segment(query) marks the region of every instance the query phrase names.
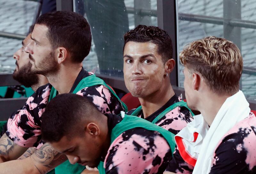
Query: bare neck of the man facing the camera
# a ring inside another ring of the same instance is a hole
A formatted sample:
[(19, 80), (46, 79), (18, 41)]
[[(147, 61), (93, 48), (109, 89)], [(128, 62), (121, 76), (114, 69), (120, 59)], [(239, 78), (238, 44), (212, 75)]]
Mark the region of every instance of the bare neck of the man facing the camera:
[(142, 107), (144, 118), (147, 118), (152, 113), (160, 109), (166, 104), (175, 93), (172, 89), (171, 83), (168, 86), (154, 92), (146, 98), (139, 98)]

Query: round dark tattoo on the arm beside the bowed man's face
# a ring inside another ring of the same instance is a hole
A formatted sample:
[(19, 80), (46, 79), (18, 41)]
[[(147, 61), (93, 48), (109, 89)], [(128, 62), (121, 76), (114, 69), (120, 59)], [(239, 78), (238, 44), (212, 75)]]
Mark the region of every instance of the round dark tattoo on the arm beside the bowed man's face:
[(67, 160), (65, 154), (58, 153), (49, 144), (44, 144), (31, 155), (40, 173), (46, 173)]

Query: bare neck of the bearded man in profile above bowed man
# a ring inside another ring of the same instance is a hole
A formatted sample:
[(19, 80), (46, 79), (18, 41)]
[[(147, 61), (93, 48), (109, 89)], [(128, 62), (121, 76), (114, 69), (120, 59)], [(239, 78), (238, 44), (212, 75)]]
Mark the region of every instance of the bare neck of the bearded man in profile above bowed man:
[(69, 93), (81, 69), (81, 64), (62, 65), (56, 74), (47, 76), (47, 79), (59, 94)]

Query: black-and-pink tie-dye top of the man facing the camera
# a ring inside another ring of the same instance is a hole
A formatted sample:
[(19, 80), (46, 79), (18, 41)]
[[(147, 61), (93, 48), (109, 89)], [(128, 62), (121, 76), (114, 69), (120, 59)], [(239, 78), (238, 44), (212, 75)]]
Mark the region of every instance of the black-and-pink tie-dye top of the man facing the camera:
[[(176, 94), (170, 98), (170, 100), (164, 104), (160, 109), (156, 112), (149, 115), (145, 120), (152, 122), (159, 114), (161, 114), (166, 108), (173, 105), (174, 103), (180, 102), (182, 99), (178, 97)], [(135, 109), (127, 112), (127, 115), (132, 114)], [(143, 111), (138, 114), (138, 117), (144, 119)], [(189, 122), (193, 120), (191, 112), (188, 108), (184, 106), (178, 106), (165, 114), (160, 120), (158, 120), (155, 124), (157, 126), (163, 127), (165, 130), (168, 130), (172, 134), (176, 135), (180, 130), (187, 126)]]

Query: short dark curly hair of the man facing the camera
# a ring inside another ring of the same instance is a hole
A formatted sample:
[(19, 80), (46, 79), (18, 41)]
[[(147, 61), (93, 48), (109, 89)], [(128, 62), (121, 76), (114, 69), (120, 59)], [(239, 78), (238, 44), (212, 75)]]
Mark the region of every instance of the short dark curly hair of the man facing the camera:
[(157, 45), (157, 53), (162, 56), (164, 63), (172, 58), (172, 39), (166, 31), (157, 26), (138, 25), (136, 28), (124, 34), (124, 47), (125, 44), (129, 41), (151, 41)]

